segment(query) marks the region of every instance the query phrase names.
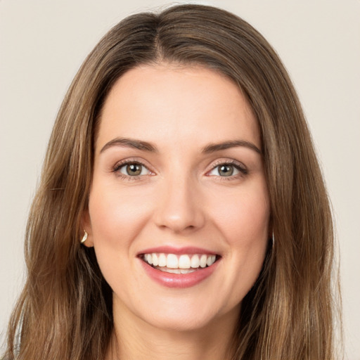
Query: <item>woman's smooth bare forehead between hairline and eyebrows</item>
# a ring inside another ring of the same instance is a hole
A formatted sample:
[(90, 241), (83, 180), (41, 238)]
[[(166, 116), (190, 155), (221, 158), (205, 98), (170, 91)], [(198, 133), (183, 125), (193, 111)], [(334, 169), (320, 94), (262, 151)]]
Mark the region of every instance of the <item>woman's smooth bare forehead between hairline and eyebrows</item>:
[(257, 120), (239, 86), (214, 70), (173, 64), (139, 66), (115, 82), (96, 148), (115, 136), (199, 146), (245, 137), (261, 147)]

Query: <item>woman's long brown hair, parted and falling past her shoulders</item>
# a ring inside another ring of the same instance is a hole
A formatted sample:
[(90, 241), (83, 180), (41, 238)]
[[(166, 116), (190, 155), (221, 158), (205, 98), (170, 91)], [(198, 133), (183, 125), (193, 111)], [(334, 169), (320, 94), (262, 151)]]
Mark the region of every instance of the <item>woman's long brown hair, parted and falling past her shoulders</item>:
[(89, 54), (60, 108), (27, 224), (27, 282), (8, 359), (103, 359), (112, 292), (79, 243), (99, 113), (127, 70), (203, 65), (233, 80), (257, 116), (274, 245), (242, 304), (233, 359), (333, 359), (333, 222), (302, 108), (281, 60), (244, 20), (211, 6), (131, 15)]

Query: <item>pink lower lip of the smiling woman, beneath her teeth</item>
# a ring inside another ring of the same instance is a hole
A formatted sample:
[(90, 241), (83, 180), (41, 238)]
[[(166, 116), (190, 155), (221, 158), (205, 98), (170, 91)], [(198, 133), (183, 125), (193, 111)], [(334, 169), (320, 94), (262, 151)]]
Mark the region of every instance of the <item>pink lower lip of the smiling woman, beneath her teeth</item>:
[(191, 288), (191, 286), (198, 285), (198, 283), (201, 283), (214, 272), (219, 262), (218, 260), (211, 266), (195, 270), (189, 274), (172, 274), (155, 269), (141, 259), (139, 261), (150, 278), (167, 288)]

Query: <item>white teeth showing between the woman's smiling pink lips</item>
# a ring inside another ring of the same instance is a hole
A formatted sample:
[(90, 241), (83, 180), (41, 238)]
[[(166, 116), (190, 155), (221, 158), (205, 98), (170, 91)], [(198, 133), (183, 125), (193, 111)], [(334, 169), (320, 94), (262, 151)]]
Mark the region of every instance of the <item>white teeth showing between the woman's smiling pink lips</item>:
[(174, 255), (174, 254), (144, 254), (143, 260), (161, 271), (173, 274), (188, 274), (199, 267), (205, 268), (214, 264), (216, 255)]

